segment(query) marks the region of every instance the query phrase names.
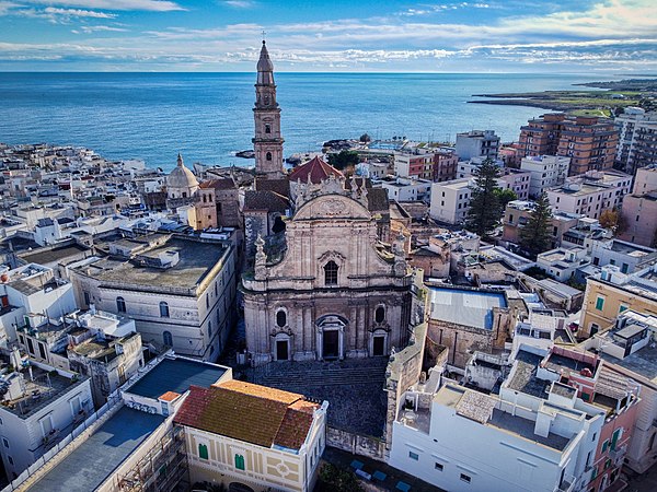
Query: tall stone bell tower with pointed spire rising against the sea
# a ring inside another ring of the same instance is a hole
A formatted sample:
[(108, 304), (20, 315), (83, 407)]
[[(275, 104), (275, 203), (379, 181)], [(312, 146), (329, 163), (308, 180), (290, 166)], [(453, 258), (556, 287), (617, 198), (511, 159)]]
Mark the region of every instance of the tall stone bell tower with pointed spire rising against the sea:
[(280, 136), (280, 108), (276, 102), (274, 65), (269, 59), (264, 39), (257, 61), (253, 117), (255, 120), (255, 137), (253, 138), (255, 173), (268, 179), (281, 178), (285, 172), (283, 168), (284, 140)]

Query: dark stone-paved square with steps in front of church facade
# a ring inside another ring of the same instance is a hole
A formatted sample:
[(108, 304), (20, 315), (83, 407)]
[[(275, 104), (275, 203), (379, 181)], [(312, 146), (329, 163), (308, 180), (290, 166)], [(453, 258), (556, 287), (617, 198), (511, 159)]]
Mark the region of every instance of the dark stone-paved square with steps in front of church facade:
[(328, 401), (328, 425), (381, 437), (385, 425), (388, 358), (273, 362), (244, 370), (246, 379)]

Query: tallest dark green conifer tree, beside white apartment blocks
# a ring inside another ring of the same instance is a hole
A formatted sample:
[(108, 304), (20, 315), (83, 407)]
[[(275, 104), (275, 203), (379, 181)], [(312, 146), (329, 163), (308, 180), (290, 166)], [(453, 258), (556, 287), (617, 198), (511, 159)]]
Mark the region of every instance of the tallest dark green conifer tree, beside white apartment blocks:
[(474, 172), (474, 186), (470, 210), (465, 218), (465, 229), (486, 237), (502, 216), (502, 207), (497, 195), (499, 167), (491, 159), (486, 159)]

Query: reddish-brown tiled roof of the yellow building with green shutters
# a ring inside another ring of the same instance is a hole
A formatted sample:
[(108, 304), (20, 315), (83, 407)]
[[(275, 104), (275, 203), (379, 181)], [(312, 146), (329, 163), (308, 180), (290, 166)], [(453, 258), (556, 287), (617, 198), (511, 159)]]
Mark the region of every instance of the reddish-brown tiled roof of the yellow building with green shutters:
[(299, 449), (318, 408), (302, 395), (229, 380), (209, 388), (192, 386), (175, 421), (267, 448)]

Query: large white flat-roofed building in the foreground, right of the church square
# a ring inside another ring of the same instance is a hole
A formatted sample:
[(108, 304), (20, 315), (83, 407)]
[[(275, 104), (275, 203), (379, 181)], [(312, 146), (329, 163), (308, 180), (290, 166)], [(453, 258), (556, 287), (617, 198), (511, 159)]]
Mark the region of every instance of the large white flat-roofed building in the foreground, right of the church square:
[(453, 384), (434, 395), (406, 391), (395, 409), (390, 465), (454, 492), (520, 492), (528, 483), (533, 491), (575, 490), (586, 414), (511, 401)]

